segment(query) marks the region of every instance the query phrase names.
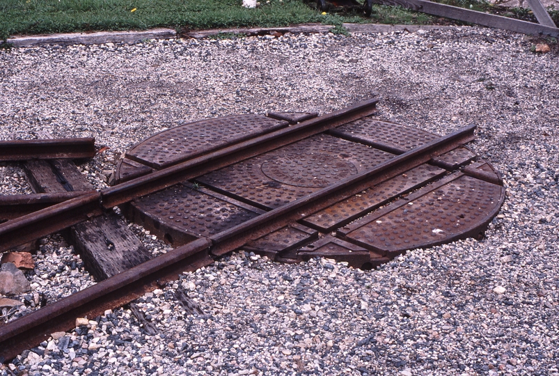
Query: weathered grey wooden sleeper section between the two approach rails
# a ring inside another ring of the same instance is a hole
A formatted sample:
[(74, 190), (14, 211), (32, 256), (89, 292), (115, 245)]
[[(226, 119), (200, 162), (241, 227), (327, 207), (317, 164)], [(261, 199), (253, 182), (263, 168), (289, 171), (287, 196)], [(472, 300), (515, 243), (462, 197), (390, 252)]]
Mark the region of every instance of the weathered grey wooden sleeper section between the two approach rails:
[(77, 224), (72, 243), (97, 281), (150, 260), (151, 254), (116, 214), (105, 214)]

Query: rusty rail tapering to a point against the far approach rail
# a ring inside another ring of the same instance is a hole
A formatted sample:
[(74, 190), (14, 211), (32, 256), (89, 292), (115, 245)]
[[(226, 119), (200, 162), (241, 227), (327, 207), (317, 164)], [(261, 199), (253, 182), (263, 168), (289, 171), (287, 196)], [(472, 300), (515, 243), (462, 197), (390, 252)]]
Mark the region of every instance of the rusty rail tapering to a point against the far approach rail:
[(84, 194), (92, 194), (95, 191), (70, 191), (42, 194), (13, 194), (8, 196), (0, 196), (0, 221), (15, 219), (25, 214), (45, 209), (57, 203), (83, 196)]

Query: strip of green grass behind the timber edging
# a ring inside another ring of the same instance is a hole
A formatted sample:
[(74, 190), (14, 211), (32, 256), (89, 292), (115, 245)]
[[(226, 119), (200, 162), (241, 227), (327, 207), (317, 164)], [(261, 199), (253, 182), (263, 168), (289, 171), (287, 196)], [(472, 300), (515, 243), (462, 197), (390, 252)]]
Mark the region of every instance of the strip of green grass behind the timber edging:
[[(214, 29), (287, 26), (322, 22), (425, 24), (433, 17), (402, 8), (375, 6), (369, 19), (357, 13), (322, 15), (304, 0), (271, 0), (255, 9), (242, 0), (0, 0), (0, 39), (17, 34), (93, 30)], [(131, 12), (132, 9), (136, 9)]]

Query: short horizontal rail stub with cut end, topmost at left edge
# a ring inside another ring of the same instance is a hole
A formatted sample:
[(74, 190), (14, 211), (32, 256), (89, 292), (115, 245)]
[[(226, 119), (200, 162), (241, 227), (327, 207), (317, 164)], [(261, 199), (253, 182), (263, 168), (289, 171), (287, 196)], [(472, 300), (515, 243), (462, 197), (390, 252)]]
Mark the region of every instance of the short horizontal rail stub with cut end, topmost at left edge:
[(0, 141), (0, 161), (79, 159), (95, 155), (95, 139), (42, 139)]

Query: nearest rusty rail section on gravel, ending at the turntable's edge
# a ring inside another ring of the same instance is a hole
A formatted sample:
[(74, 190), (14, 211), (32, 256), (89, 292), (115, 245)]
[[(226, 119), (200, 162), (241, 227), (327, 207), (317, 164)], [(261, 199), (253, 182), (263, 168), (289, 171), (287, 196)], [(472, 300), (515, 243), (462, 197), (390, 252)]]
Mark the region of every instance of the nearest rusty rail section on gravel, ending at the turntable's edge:
[(213, 262), (207, 256), (210, 244), (210, 240), (198, 239), (9, 322), (0, 327), (0, 357), (12, 359), (53, 331), (72, 329), (76, 318), (102, 315), (176, 279), (182, 271), (209, 265)]

